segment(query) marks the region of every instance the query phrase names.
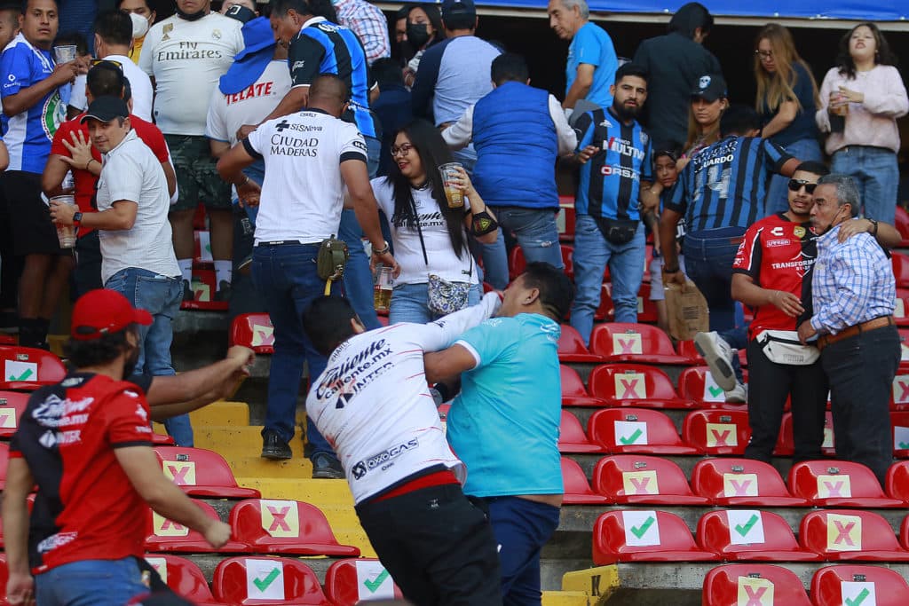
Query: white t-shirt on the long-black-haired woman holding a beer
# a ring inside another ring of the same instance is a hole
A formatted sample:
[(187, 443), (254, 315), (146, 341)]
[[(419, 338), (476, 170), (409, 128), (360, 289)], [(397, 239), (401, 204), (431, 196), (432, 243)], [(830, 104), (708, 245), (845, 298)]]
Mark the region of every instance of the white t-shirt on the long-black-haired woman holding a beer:
[[(411, 229), (407, 224), (395, 224), (395, 189), (385, 177), (372, 180), (373, 193), (379, 208), (388, 217), (392, 230), (392, 241), (395, 243), (395, 261), (401, 265), (401, 274), (395, 278), (396, 284), (428, 283), (429, 274), (435, 273), (449, 282), (479, 283), (474, 258), (464, 247), (461, 257), (454, 253), (451, 238), (448, 235), (448, 224), (439, 210), (432, 192), (426, 189), (411, 189), (414, 194), (416, 214), (420, 219), (423, 231), (423, 242), (426, 247), (426, 259), (420, 245), (420, 233), (416, 227)], [(470, 210), (470, 202), (464, 198), (464, 209)], [(464, 243), (467, 236), (464, 235)]]

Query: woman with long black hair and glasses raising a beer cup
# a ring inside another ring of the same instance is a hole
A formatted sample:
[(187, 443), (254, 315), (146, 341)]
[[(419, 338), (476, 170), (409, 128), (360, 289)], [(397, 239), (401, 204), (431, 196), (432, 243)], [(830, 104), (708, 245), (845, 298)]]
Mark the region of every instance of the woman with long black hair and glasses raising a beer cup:
[(433, 124), (408, 124), (395, 134), (391, 152), (389, 174), (372, 182), (401, 268), (389, 322), (432, 322), (480, 302), (483, 292), (467, 231), (492, 243), (498, 225), (464, 167), (452, 165), (451, 151)]

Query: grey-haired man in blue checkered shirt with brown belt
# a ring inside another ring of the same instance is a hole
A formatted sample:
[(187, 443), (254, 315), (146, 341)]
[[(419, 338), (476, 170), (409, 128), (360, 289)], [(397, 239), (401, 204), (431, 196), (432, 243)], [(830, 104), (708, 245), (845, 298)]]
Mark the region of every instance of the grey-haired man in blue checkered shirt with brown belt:
[(841, 224), (861, 208), (851, 177), (829, 174), (814, 190), (817, 238), (814, 316), (799, 326), (802, 343), (817, 338), (830, 380), (836, 456), (867, 465), (884, 484), (893, 462), (890, 389), (900, 364), (894, 325), (896, 286), (890, 259), (873, 233), (841, 238)]

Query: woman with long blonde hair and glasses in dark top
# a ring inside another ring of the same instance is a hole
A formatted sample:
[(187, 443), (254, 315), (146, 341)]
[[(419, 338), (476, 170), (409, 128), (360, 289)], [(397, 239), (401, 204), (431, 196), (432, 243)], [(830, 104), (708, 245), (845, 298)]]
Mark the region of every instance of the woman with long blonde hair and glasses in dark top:
[[(782, 147), (787, 154), (804, 161), (820, 161), (814, 111), (817, 83), (811, 68), (795, 50), (793, 36), (783, 25), (764, 25), (755, 38), (754, 79), (757, 96), (754, 107), (761, 114), (761, 136)], [(787, 179), (774, 174), (767, 188), (766, 214), (785, 212)]]

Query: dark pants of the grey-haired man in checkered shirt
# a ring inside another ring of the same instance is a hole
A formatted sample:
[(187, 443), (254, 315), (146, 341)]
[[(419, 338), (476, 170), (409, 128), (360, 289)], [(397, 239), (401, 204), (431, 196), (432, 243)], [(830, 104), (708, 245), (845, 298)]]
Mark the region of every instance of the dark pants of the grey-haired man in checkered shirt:
[(836, 457), (871, 468), (884, 485), (894, 462), (890, 391), (900, 366), (900, 335), (885, 326), (831, 343), (821, 353), (830, 380)]

